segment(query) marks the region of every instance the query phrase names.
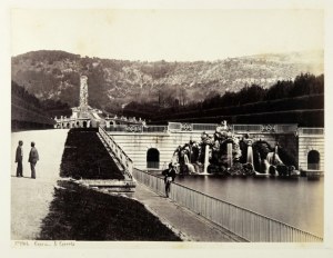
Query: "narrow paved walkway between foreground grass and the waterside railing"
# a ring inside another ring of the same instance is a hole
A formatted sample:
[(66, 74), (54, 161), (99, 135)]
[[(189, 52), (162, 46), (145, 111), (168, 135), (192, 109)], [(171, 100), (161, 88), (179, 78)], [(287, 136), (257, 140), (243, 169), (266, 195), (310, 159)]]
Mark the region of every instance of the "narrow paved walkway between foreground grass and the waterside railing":
[(188, 241), (241, 241), (241, 239), (213, 222), (176, 205), (169, 198), (159, 196), (145, 186), (138, 183), (134, 198), (144, 204), (162, 222), (171, 226)]

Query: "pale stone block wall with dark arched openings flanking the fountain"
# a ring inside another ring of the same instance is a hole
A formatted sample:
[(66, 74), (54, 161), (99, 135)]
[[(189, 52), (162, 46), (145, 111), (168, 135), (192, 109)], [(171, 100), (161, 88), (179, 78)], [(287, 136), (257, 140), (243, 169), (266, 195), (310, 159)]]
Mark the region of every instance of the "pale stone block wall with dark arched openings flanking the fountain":
[[(113, 136), (117, 143), (133, 160), (134, 167), (147, 169), (147, 153), (153, 148), (160, 152), (159, 169), (167, 168), (172, 159), (173, 151), (178, 146), (183, 146), (190, 140), (200, 142), (201, 131), (195, 132), (164, 132), (164, 133), (129, 133), (129, 132), (109, 132)], [(211, 133), (210, 133), (211, 135)], [(239, 133), (238, 137), (243, 135)], [(295, 136), (294, 133), (253, 133), (250, 136), (254, 140), (264, 140), (274, 147), (276, 142), (294, 160), (294, 165), (300, 170), (307, 169), (307, 153), (316, 150), (320, 153), (320, 169), (324, 170), (324, 136)], [(292, 165), (292, 163), (286, 163)]]

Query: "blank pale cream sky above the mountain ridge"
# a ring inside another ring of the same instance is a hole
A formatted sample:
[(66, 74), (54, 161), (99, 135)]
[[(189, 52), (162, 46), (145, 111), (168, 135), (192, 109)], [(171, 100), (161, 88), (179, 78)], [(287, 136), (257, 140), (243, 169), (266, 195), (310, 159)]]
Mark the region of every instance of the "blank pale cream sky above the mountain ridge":
[(141, 61), (321, 50), (320, 9), (11, 9), (11, 56), (64, 50)]

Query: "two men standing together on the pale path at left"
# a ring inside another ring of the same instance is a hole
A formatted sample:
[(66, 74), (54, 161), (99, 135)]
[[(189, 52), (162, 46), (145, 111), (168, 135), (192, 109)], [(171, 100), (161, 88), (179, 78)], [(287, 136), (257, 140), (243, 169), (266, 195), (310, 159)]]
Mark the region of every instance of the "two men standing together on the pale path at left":
[[(19, 140), (19, 146), (17, 148), (16, 153), (16, 162), (18, 163), (17, 167), (17, 177), (23, 177), (23, 141)], [(31, 149), (29, 152), (29, 159), (28, 162), (30, 163), (31, 169), (31, 178), (36, 179), (36, 163), (39, 160), (38, 151), (34, 147), (34, 142), (31, 141)]]

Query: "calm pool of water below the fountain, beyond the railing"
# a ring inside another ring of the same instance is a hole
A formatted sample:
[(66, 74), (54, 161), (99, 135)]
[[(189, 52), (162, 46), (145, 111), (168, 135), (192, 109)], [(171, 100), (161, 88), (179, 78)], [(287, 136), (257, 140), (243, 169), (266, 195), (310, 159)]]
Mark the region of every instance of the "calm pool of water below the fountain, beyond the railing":
[(178, 177), (175, 182), (323, 236), (324, 178)]

